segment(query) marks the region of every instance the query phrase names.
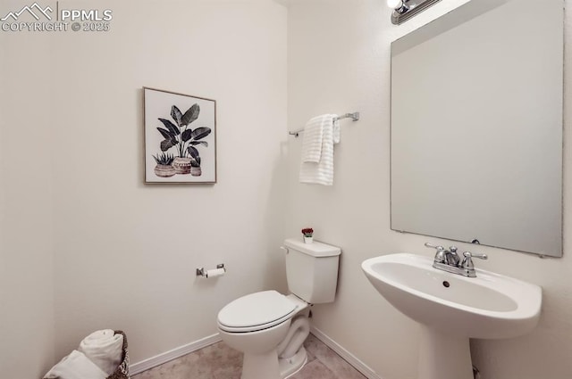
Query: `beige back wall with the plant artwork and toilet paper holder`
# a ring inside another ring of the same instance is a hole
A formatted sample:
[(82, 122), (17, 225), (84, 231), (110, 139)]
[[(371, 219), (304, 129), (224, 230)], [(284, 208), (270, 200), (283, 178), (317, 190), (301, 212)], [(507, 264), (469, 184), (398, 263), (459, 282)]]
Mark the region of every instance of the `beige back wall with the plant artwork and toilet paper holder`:
[[(56, 47), (55, 351), (123, 328), (137, 362), (216, 333), (225, 303), (275, 283), (259, 273), (282, 238), (287, 13), (269, 1), (107, 4), (109, 34)], [(216, 185), (142, 184), (143, 86), (217, 101)], [(196, 279), (218, 263), (226, 276)]]

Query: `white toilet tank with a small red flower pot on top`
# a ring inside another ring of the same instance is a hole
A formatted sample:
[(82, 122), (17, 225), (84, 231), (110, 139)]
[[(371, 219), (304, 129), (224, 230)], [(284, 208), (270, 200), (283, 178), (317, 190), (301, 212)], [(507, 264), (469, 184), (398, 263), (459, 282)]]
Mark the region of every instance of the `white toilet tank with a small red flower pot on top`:
[(332, 302), (338, 285), (341, 249), (326, 243), (304, 243), (301, 239), (284, 241), (288, 288), (311, 304)]

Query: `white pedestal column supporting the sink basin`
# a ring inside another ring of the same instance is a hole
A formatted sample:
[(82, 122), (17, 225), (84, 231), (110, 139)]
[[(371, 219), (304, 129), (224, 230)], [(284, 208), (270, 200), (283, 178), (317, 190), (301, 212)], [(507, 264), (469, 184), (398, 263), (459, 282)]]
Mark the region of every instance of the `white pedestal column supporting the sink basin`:
[(419, 379), (473, 379), (467, 337), (447, 334), (421, 324)]

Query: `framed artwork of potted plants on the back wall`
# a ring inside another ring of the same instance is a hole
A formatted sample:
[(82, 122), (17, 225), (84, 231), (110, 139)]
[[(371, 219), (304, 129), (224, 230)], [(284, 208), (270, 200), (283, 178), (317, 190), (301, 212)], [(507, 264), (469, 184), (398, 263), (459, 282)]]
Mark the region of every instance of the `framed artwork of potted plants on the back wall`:
[(216, 102), (143, 87), (145, 183), (216, 183)]

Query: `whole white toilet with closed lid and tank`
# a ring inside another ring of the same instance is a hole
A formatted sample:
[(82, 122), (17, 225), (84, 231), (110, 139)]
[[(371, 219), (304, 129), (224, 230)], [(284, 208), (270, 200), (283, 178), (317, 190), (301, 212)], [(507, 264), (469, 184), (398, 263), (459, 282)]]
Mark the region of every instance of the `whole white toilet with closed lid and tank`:
[(332, 302), (341, 250), (325, 243), (284, 241), (290, 294), (250, 293), (218, 313), (221, 338), (244, 353), (242, 379), (282, 379), (307, 362), (308, 305)]

